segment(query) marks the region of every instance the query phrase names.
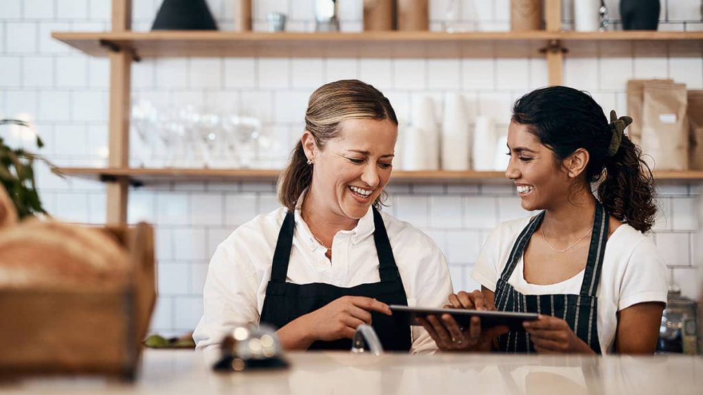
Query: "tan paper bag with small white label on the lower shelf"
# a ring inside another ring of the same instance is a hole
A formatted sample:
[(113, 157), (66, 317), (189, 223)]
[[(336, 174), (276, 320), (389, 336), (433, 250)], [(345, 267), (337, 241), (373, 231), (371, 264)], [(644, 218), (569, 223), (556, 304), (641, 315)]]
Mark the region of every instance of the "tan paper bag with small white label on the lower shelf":
[(657, 170), (688, 170), (688, 118), (685, 84), (645, 82), (642, 147)]

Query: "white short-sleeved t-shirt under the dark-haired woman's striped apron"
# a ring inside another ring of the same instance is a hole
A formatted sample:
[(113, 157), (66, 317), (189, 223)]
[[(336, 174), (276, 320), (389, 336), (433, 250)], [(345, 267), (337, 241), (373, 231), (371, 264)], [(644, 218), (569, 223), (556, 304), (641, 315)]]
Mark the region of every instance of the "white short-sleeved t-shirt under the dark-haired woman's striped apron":
[[(496, 290), (508, 255), (517, 236), (527, 226), (529, 217), (500, 224), (486, 240), (472, 277), (491, 291)], [(523, 257), (508, 278), (508, 284), (522, 294), (579, 294), (583, 272), (549, 285), (527, 283)], [(623, 224), (605, 245), (598, 297), (598, 341), (602, 354), (614, 351), (617, 312), (643, 302), (666, 303), (666, 265), (659, 258), (652, 240)]]

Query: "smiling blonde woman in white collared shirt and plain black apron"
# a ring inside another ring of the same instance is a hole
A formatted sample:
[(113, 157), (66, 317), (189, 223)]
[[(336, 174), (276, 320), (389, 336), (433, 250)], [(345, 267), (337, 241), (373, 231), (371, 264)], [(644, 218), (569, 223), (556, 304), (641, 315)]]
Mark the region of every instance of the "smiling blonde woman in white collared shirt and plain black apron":
[(452, 292), (437, 245), (379, 210), (397, 135), (395, 112), (373, 86), (343, 80), (312, 93), (280, 177), (283, 207), (240, 226), (210, 261), (198, 348), (233, 325), (267, 323), (286, 349), (349, 350), (367, 323), (387, 350), (437, 349), (388, 307), (439, 307)]

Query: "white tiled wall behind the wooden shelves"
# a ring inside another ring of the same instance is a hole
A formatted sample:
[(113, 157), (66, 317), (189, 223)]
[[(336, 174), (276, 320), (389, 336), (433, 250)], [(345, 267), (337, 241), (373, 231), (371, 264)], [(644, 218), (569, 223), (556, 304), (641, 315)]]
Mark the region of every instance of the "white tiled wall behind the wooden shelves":
[[(342, 30), (359, 31), (361, 1), (340, 3)], [(571, 27), (570, 0), (563, 25)], [(208, 0), (223, 30), (234, 25), (233, 0)], [(618, 0), (606, 0), (611, 25), (621, 28)], [(148, 31), (160, 0), (133, 1), (133, 29)], [(266, 30), (266, 14), (288, 13), (292, 30), (313, 31), (313, 0), (255, 0), (254, 29)], [(430, 1), (432, 30), (509, 30), (509, 0)], [(451, 8), (453, 7), (453, 8)], [(699, 0), (662, 1), (662, 30), (703, 30)], [(105, 166), (109, 63), (90, 58), (50, 37), (60, 30), (108, 30), (110, 0), (3, 0), (0, 6), (0, 116), (30, 117), (54, 163)], [(490, 50), (490, 48), (489, 48)], [(516, 48), (526, 51), (526, 48)], [(603, 106), (626, 112), (629, 78), (671, 77), (703, 89), (703, 57), (677, 57), (670, 44), (613, 47), (593, 44), (594, 58), (567, 58), (565, 84), (587, 89)], [(601, 57), (602, 56), (602, 57)], [(280, 166), (303, 129), (307, 98), (316, 86), (359, 78), (385, 91), (402, 121), (418, 95), (435, 100), (441, 115), (447, 93), (462, 93), (470, 119), (488, 115), (507, 127), (516, 98), (544, 86), (546, 62), (524, 58), (169, 58), (133, 63), (133, 98), (157, 107), (193, 105), (215, 112), (258, 117), (262, 136), (278, 142), (257, 164)], [(441, 119), (441, 117), (438, 117)], [(20, 136), (7, 141), (29, 146)], [(138, 142), (133, 141), (134, 144)], [(136, 151), (136, 150), (133, 150)], [(134, 152), (133, 152), (134, 156)], [(133, 158), (134, 159), (134, 158)], [(65, 221), (105, 218), (101, 183), (60, 179), (37, 164), (45, 207)], [(698, 297), (695, 271), (703, 263), (700, 240), (703, 188), (695, 183), (657, 186), (661, 211), (651, 233), (671, 278), (688, 297)], [(470, 278), (485, 238), (500, 221), (526, 216), (514, 188), (398, 183), (388, 187), (388, 212), (430, 235), (446, 255), (455, 290), (473, 290)], [(155, 224), (160, 296), (153, 330), (192, 330), (202, 313), (207, 261), (237, 226), (278, 207), (273, 183), (158, 183), (130, 190), (130, 223)]]

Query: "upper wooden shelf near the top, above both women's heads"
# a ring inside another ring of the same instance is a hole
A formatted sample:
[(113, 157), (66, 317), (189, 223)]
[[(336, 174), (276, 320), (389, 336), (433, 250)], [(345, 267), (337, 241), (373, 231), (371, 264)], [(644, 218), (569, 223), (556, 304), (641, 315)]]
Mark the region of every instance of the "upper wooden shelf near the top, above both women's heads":
[[(596, 42), (675, 43), (676, 56), (701, 56), (703, 32), (361, 32), (262, 33), (221, 31), (54, 32), (51, 36), (91, 56), (129, 51), (136, 58), (524, 58), (550, 44), (569, 56), (625, 56)], [(645, 45), (646, 47), (646, 45)]]

